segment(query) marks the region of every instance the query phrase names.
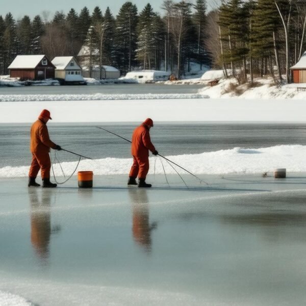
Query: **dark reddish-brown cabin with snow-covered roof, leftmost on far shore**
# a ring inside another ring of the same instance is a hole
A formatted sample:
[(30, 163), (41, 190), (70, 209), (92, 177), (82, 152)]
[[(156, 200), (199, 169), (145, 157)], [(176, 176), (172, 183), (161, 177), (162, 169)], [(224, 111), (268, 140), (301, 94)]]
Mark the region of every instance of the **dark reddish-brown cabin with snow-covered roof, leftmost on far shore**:
[(8, 67), (11, 78), (20, 80), (54, 79), (55, 66), (45, 55), (17, 55)]

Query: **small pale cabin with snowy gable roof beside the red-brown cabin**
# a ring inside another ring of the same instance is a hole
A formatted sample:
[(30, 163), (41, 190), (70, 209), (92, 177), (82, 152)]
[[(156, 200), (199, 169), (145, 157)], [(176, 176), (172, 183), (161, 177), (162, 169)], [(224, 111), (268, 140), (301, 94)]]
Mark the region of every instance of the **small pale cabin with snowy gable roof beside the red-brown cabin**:
[(58, 56), (52, 61), (56, 67), (55, 78), (65, 82), (85, 82), (82, 77), (82, 68), (73, 56)]

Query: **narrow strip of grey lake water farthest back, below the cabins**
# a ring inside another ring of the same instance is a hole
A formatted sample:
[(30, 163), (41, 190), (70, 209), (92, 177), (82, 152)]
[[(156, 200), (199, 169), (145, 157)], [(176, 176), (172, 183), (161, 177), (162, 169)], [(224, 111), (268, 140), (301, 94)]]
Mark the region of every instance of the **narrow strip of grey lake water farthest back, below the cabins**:
[(204, 85), (105, 84), (87, 86), (0, 87), (1, 94), (166, 94), (197, 93)]

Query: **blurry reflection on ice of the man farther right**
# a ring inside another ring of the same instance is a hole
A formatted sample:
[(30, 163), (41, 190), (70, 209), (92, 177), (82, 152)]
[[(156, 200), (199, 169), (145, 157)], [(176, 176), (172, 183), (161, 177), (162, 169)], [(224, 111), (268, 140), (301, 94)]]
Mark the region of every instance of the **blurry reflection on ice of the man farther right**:
[(145, 189), (129, 189), (132, 204), (134, 241), (146, 252), (151, 251), (151, 232), (157, 228), (157, 222), (149, 222), (149, 207), (147, 191)]

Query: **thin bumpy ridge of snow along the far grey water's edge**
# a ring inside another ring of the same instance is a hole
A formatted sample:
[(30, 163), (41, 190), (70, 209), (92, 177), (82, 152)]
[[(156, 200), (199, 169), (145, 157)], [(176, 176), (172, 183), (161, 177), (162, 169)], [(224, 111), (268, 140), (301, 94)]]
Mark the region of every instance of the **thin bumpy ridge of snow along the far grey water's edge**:
[(197, 99), (207, 95), (200, 93), (187, 94), (4, 94), (0, 95), (1, 102), (15, 101), (83, 101), (83, 100), (143, 100), (143, 99)]

